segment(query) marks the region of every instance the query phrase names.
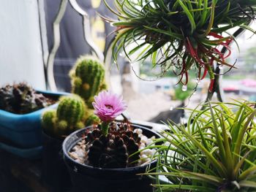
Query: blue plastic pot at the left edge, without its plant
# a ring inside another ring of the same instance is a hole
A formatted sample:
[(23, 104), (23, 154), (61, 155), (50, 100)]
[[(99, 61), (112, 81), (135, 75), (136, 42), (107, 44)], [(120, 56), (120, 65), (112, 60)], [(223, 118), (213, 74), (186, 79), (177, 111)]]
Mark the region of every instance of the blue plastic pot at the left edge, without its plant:
[[(50, 91), (37, 91), (43, 95), (59, 99), (60, 96), (69, 93), (53, 93)], [(5, 145), (20, 148), (20, 150), (37, 148), (42, 146), (42, 112), (49, 109), (55, 109), (58, 104), (52, 104), (41, 110), (30, 112), (24, 115), (14, 114), (0, 110), (0, 139)], [(0, 145), (1, 147), (1, 145)], [(6, 148), (4, 148), (6, 150)], [(13, 153), (12, 151), (10, 151)]]

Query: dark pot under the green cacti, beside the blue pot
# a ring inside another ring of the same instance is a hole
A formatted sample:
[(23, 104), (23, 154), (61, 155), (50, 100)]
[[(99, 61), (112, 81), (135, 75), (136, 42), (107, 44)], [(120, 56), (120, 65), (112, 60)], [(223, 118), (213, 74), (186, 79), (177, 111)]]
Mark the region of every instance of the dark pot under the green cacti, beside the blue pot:
[(72, 188), (67, 166), (64, 163), (62, 142), (64, 139), (50, 137), (43, 132), (43, 180), (49, 191), (63, 192)]

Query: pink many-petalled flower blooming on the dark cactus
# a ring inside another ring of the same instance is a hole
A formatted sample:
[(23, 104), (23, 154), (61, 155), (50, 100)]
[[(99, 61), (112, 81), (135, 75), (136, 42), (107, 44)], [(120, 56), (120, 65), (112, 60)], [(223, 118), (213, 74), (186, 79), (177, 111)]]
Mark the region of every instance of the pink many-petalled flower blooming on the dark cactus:
[(127, 104), (123, 101), (122, 96), (110, 91), (100, 92), (98, 96), (94, 96), (94, 101), (92, 103), (94, 114), (106, 123), (114, 120), (127, 109)]

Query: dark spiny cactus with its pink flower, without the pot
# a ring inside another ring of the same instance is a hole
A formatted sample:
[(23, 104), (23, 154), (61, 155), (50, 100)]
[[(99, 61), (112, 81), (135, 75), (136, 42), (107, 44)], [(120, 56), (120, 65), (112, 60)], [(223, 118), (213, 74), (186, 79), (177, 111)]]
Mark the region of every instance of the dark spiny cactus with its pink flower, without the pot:
[(121, 96), (110, 91), (100, 92), (94, 100), (94, 114), (101, 123), (86, 134), (89, 164), (103, 168), (134, 166), (140, 158), (140, 137), (129, 123), (113, 122), (127, 109), (127, 104)]

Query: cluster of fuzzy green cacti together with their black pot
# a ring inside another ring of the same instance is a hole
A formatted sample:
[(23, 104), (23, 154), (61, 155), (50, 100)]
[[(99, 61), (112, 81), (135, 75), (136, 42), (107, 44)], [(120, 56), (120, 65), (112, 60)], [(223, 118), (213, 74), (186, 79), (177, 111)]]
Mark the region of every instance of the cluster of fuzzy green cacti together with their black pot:
[(90, 109), (91, 98), (105, 88), (104, 66), (89, 55), (78, 58), (70, 71), (70, 77), (73, 94), (61, 97), (56, 110), (47, 110), (42, 115), (43, 170), (46, 183), (52, 191), (67, 191), (71, 187), (62, 157), (62, 142), (73, 131), (99, 122)]

